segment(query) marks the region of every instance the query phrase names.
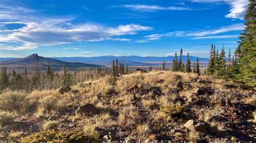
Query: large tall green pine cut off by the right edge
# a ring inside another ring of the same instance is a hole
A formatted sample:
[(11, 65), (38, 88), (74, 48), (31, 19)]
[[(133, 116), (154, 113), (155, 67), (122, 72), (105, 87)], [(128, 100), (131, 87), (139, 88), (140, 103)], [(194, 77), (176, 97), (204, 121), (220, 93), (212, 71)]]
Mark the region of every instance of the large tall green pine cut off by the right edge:
[(247, 85), (256, 87), (256, 2), (249, 0), (245, 15), (244, 33), (239, 37), (239, 45), (235, 54), (238, 56), (240, 80)]

